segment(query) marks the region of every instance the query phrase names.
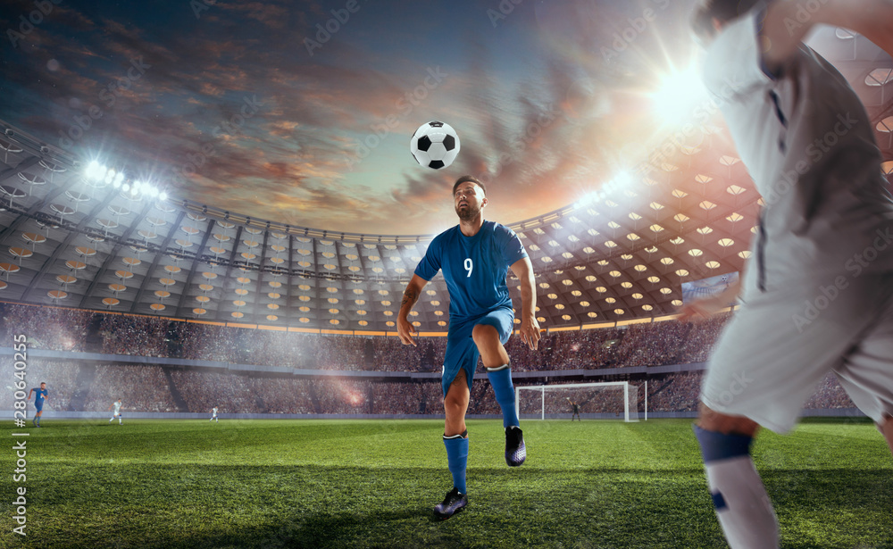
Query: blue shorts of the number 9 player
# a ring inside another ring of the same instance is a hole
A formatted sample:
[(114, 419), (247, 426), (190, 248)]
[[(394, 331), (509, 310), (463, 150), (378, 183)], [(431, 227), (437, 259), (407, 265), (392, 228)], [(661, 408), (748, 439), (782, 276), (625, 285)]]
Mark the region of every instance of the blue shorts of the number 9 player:
[(450, 322), (447, 332), (447, 353), (444, 357), (443, 376), (440, 379), (444, 397), (447, 397), (449, 386), (453, 383), (459, 369), (465, 370), (465, 381), (468, 389), (472, 389), (474, 370), (478, 368), (480, 352), (472, 339), (472, 330), (478, 324), (487, 324), (499, 332), (499, 342), (505, 345), (512, 335), (514, 312), (511, 309), (497, 309), (477, 318), (463, 321), (461, 324)]

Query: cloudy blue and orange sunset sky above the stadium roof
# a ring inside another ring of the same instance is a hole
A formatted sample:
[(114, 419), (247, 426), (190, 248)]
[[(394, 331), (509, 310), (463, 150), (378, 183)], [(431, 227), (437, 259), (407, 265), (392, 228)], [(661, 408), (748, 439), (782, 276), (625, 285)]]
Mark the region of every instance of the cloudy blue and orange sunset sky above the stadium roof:
[[(471, 173), (509, 223), (647, 157), (690, 4), (7, 0), (0, 119), (256, 219), (430, 234)], [(430, 120), (462, 143), (442, 171), (409, 153)]]

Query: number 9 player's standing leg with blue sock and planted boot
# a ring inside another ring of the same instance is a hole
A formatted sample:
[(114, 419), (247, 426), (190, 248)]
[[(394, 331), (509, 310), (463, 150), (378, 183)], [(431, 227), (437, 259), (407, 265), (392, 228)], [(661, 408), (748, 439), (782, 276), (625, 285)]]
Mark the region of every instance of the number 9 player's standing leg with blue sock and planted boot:
[(453, 489), (447, 493), (442, 503), (434, 507), (434, 515), (440, 520), (449, 519), (468, 504), (468, 496), (465, 494), (465, 468), (468, 463), (465, 412), (468, 410), (470, 397), (465, 370), (460, 368), (444, 398), (444, 411), (447, 412), (444, 446), (447, 448), (447, 467), (453, 475)]

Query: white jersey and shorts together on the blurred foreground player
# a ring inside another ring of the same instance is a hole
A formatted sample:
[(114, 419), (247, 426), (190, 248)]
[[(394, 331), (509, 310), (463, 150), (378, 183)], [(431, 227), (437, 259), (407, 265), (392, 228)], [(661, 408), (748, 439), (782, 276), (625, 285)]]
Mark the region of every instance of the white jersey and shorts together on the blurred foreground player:
[(801, 46), (764, 71), (757, 10), (707, 48), (705, 85), (764, 197), (743, 304), (701, 401), (785, 432), (830, 371), (872, 420), (893, 413), (893, 198), (864, 106)]

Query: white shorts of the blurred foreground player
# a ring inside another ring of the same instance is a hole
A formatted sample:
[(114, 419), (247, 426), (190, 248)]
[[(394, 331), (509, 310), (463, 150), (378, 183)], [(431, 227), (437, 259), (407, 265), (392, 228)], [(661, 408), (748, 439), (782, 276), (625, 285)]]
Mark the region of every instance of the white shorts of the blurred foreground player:
[(701, 401), (784, 433), (830, 371), (872, 420), (893, 413), (893, 273), (749, 288), (714, 348)]

